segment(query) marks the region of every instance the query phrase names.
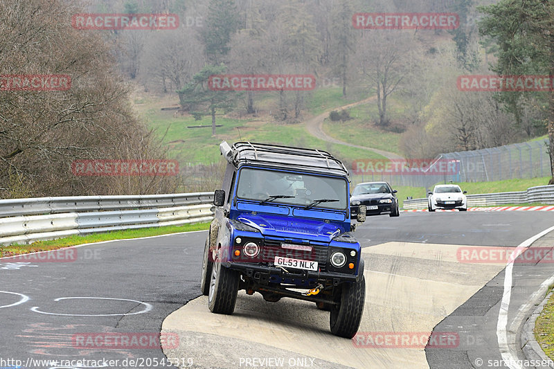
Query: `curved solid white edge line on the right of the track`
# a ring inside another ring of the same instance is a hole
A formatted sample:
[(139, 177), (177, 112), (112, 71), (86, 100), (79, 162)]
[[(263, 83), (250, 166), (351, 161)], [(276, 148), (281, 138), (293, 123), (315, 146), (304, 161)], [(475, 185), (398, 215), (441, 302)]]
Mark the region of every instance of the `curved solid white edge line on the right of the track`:
[(517, 246), (512, 252), (508, 264), (506, 264), (506, 271), (504, 273), (504, 291), (498, 314), (497, 337), (502, 359), (510, 369), (522, 369), (515, 359), (517, 354), (512, 351), (510, 344), (508, 343), (508, 307), (510, 307), (510, 298), (512, 295), (512, 270), (514, 267), (514, 261), (517, 259), (519, 254), (524, 251), (524, 249), (527, 249), (531, 246), (531, 244), (533, 244), (533, 242), (551, 231), (554, 231), (554, 226), (528, 238), (524, 242), (521, 242), (521, 244), (519, 244), (519, 246)]

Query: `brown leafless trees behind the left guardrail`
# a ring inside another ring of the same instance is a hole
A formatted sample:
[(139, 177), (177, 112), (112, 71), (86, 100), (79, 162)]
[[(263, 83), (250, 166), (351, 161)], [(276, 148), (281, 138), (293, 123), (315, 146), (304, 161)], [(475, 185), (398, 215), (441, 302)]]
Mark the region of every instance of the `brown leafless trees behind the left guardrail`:
[[(78, 177), (75, 159), (163, 159), (129, 108), (129, 89), (100, 33), (71, 27), (81, 11), (69, 0), (0, 3), (0, 74), (69, 75), (66, 91), (2, 91), (0, 188), (2, 197), (106, 194), (115, 177)], [(60, 19), (67, 19), (60, 22)], [(132, 193), (165, 192), (173, 179), (130, 179)], [(21, 191), (21, 183), (25, 183)]]

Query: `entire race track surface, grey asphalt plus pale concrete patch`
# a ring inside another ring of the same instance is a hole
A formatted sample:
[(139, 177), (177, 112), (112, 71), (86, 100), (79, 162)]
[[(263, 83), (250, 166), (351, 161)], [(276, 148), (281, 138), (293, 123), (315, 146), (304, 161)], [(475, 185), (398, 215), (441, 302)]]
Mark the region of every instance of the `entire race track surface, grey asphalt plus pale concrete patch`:
[[(271, 367), (256, 358), (294, 359), (292, 367), (312, 368), (476, 367), (477, 357), (485, 363), (500, 357), (503, 265), (459, 262), (456, 252), (461, 246), (513, 248), (553, 224), (554, 214), (515, 211), (368, 217), (357, 230), (366, 246), (368, 279), (362, 328), (366, 333), (458, 334), (455, 347), (433, 350), (360, 350), (328, 332), (328, 313), (296, 300), (269, 304), (256, 295), (240, 296), (233, 316), (209, 314), (203, 298), (197, 298), (205, 232), (82, 246), (74, 249), (76, 260), (3, 258), (0, 368), (15, 366), (8, 359), (21, 360), (24, 368), (170, 368), (152, 341), (164, 319), (165, 352), (172, 361), (179, 359), (181, 368)], [(554, 265), (517, 265), (512, 274), (508, 327), (519, 318), (519, 307), (554, 274)], [(98, 334), (105, 340), (95, 341)], [(110, 343), (107, 337), (114, 334), (150, 341), (128, 348)], [(132, 359), (137, 362), (129, 365)]]

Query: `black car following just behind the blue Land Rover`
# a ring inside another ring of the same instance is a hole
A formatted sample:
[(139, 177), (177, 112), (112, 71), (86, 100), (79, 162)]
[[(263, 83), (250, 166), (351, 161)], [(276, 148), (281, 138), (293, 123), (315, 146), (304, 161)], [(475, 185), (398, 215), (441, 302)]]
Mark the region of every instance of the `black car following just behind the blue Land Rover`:
[(398, 217), (400, 209), (396, 190), (386, 182), (359, 183), (350, 196), (350, 218), (355, 219), (359, 205), (367, 207), (366, 215), (388, 214)]

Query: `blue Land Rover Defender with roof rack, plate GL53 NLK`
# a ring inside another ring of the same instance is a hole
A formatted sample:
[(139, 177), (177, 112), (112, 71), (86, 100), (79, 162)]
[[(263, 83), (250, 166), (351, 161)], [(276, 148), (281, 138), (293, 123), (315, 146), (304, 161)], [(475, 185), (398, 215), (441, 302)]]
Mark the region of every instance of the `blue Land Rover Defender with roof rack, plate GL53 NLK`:
[[(221, 190), (204, 249), (202, 293), (232, 314), (239, 290), (312, 301), (333, 334), (355, 336), (364, 312), (364, 260), (350, 224), (348, 170), (321, 150), (226, 142)], [(365, 209), (358, 222), (364, 222)]]

